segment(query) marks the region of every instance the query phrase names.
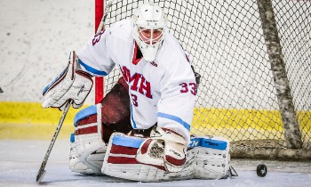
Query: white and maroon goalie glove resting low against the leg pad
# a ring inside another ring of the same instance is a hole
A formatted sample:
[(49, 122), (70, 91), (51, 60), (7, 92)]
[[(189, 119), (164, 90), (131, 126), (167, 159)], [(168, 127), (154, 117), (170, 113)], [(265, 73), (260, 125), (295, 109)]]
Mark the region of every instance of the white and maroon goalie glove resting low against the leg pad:
[(156, 126), (141, 143), (136, 159), (142, 163), (179, 172), (186, 163), (187, 142), (174, 131)]

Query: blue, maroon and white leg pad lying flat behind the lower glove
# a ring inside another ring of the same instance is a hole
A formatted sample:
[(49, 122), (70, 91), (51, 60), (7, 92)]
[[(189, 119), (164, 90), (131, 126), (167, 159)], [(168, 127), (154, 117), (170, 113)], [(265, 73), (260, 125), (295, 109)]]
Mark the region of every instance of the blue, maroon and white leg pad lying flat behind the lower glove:
[(228, 175), (229, 143), (225, 139), (192, 137), (185, 167), (177, 173), (166, 172), (164, 167), (140, 164), (135, 156), (144, 140), (120, 133), (113, 134), (108, 143), (102, 173), (141, 182), (220, 179)]

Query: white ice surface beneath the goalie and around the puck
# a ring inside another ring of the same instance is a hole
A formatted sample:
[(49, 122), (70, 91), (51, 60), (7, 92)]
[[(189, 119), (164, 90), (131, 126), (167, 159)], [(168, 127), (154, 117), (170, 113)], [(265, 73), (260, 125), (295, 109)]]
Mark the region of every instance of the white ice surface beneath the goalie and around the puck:
[[(0, 186), (39, 186), (36, 174), (50, 141), (0, 141)], [(69, 141), (57, 140), (45, 167), (43, 186), (311, 186), (311, 163), (232, 160), (239, 176), (223, 180), (187, 180), (137, 183), (110, 176), (77, 175), (68, 169)], [(267, 165), (266, 177), (256, 175), (258, 164)]]

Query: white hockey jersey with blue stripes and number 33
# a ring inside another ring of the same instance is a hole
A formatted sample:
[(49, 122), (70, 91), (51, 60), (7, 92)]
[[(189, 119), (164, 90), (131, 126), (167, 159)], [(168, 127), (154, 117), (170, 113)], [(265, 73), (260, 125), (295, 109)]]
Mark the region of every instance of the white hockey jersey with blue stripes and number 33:
[(154, 62), (137, 59), (131, 27), (131, 20), (121, 20), (95, 35), (77, 53), (82, 69), (106, 76), (118, 66), (129, 85), (132, 127), (147, 129), (157, 123), (189, 142), (196, 84), (184, 50), (166, 31)]

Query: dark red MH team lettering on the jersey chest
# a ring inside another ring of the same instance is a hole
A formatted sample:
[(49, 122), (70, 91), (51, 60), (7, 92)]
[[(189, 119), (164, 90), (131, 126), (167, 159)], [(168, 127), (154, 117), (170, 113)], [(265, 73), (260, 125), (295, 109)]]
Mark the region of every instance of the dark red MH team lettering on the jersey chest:
[(136, 72), (131, 75), (131, 70), (127, 69), (125, 66), (121, 67), (121, 72), (131, 90), (139, 92), (149, 99), (152, 99), (150, 82), (148, 82), (143, 75)]

